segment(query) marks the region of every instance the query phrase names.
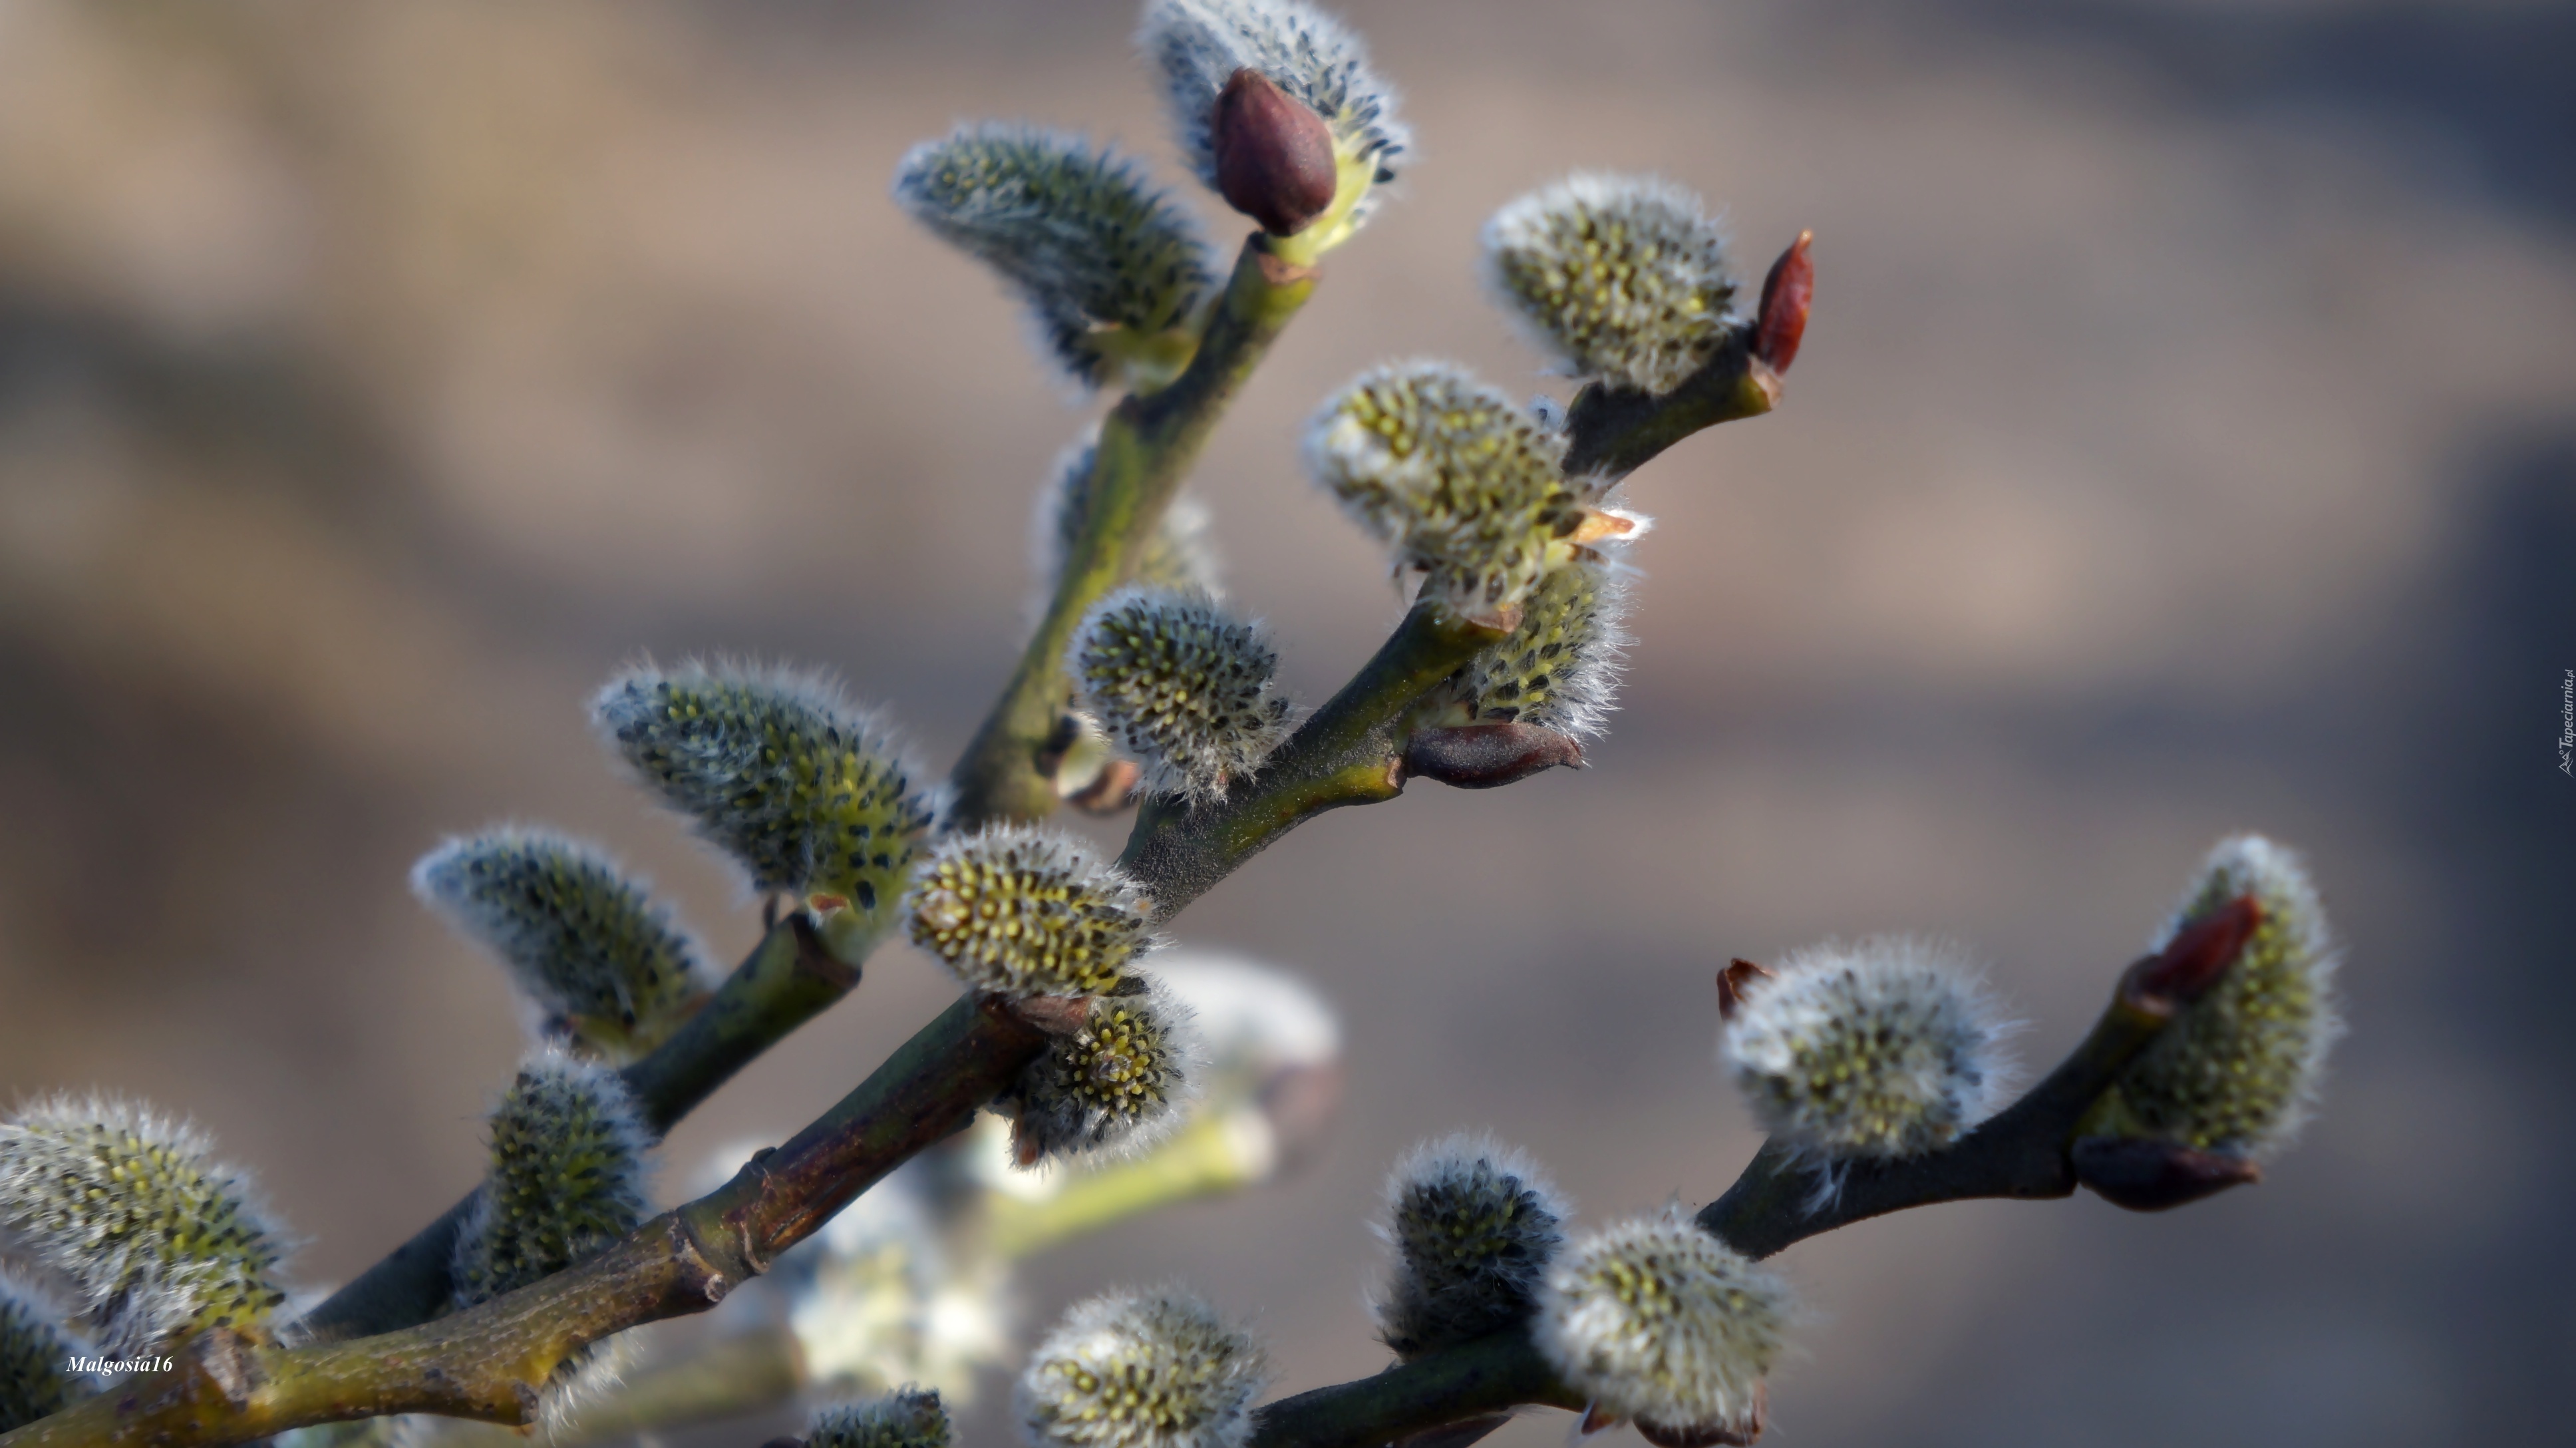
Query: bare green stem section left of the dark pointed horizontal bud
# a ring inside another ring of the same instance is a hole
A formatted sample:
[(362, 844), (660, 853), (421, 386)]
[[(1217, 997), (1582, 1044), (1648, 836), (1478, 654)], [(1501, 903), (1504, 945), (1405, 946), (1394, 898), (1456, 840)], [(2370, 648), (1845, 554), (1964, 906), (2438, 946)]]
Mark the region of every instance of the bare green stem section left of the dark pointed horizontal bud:
[(1118, 863), (1144, 884), (1154, 915), (1170, 920), (1306, 819), (1404, 794), (1404, 714), (1504, 636), (1502, 629), (1417, 603), (1378, 657), (1224, 804), (1146, 801)]

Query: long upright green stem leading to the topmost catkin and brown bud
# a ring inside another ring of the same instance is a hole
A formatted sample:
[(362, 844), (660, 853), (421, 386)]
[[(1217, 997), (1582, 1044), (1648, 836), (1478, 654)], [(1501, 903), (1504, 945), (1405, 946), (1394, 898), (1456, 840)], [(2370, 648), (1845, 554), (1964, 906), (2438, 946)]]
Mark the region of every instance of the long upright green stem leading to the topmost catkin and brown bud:
[(1314, 294), (1314, 268), (1275, 258), (1260, 234), (1244, 240), (1226, 296), (1188, 371), (1159, 392), (1128, 394), (1100, 420), (1082, 531), (1064, 554), (1056, 595), (1030, 634), (1018, 672), (948, 776), (961, 827), (1043, 819), (1056, 809), (1056, 786), (1041, 768), (1041, 755), (1072, 696), (1064, 647), (1092, 603), (1136, 575), (1136, 559), (1198, 461), (1198, 448), (1270, 353), (1270, 343)]

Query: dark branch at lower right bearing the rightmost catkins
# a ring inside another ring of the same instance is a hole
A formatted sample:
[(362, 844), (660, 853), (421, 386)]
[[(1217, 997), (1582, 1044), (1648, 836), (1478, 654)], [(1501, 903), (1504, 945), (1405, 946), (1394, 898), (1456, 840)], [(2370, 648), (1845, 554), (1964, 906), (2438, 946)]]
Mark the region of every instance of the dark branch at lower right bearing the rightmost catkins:
[[(2241, 917), (2218, 917), (2187, 930), (2161, 956), (2130, 966), (2074, 1054), (1955, 1147), (1911, 1162), (1852, 1165), (1842, 1193), (1811, 1211), (1811, 1167), (1777, 1141), (1765, 1141), (1736, 1185), (1700, 1211), (1698, 1224), (1749, 1257), (1770, 1257), (1808, 1237), (1911, 1206), (2071, 1196), (2074, 1141), (2084, 1113), (2187, 1000), (2215, 984), (2236, 958), (2246, 928)], [(1528, 1332), (1515, 1327), (1425, 1353), (1373, 1378), (1267, 1404), (1252, 1448), (1378, 1448), (1525, 1404), (1582, 1409), (1584, 1399), (1556, 1378)], [(1499, 1420), (1484, 1427), (1492, 1425)], [(1461, 1433), (1453, 1443), (1473, 1438), (1481, 1433)]]

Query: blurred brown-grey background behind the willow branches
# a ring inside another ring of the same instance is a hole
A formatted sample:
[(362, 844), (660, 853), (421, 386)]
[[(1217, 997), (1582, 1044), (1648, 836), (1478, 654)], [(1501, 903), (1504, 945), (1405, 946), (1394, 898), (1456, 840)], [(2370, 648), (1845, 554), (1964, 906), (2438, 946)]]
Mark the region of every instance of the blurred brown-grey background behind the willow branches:
[[(1182, 920), (1345, 1013), (1324, 1159), (1046, 1257), (1030, 1324), (1185, 1278), (1260, 1319), (1285, 1386), (1373, 1371), (1365, 1214), (1409, 1141), (1492, 1126), (1595, 1219), (1705, 1201), (1754, 1144), (1708, 1064), (1713, 964), (1947, 933), (2045, 1064), (2200, 850), (2257, 827), (2352, 946), (2306, 1147), (2177, 1216), (1976, 1203), (1790, 1252), (1816, 1322), (1777, 1440), (2550, 1438), (2576, 10), (1350, 18), (1419, 149), (1200, 472), (1309, 701), (1396, 598), (1296, 425), (1386, 356), (1540, 386), (1473, 281), (1497, 204), (1656, 170), (1728, 209), (1754, 276), (1814, 227), (1821, 304), (1780, 415), (1636, 482), (1662, 531), (1589, 773), (1327, 817)], [(500, 974), (404, 891), (440, 832), (564, 824), (726, 961), (755, 933), (603, 768), (608, 670), (829, 662), (945, 763), (1084, 412), (886, 178), (1002, 113), (1177, 180), (1131, 23), (0, 0), (0, 1095), (185, 1108), (312, 1237), (301, 1270), (345, 1278), (477, 1175), (518, 1051)], [(796, 1126), (948, 989), (884, 953), (672, 1162)]]

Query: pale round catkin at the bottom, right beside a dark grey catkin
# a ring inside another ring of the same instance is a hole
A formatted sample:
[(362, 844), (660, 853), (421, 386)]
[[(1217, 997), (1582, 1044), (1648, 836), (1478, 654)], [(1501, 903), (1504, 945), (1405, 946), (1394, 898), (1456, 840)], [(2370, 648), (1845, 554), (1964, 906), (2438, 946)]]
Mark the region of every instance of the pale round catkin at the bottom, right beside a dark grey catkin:
[(1540, 1291), (1540, 1355), (1610, 1417), (1667, 1433), (1757, 1422), (1788, 1345), (1788, 1286), (1680, 1211), (1566, 1247)]

